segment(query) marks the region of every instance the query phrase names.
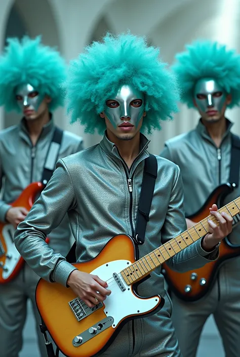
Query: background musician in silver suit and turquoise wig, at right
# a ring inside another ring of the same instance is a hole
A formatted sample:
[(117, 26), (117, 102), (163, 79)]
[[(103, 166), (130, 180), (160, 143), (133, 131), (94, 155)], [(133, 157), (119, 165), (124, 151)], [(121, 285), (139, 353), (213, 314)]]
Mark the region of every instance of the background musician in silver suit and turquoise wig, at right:
[[(240, 56), (216, 42), (197, 41), (176, 55), (173, 70), (182, 89), (182, 102), (201, 116), (195, 129), (168, 140), (161, 152), (180, 168), (185, 214), (189, 216), (201, 209), (216, 187), (229, 181), (233, 124), (225, 111), (240, 103)], [(240, 195), (239, 182), (234, 184), (224, 204)], [(192, 224), (187, 219), (188, 227)], [(233, 228), (228, 237), (232, 244), (239, 245), (239, 232), (239, 226)], [(239, 257), (226, 260), (211, 291), (198, 301), (181, 301), (172, 294), (172, 319), (184, 357), (196, 355), (211, 314), (226, 357), (240, 355), (239, 269)]]

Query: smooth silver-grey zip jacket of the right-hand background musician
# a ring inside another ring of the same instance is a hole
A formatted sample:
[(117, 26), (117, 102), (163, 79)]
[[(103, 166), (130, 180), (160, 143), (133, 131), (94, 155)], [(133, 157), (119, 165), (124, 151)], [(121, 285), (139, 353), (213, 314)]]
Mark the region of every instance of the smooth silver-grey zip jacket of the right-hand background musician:
[[(168, 140), (161, 156), (168, 158), (180, 168), (184, 187), (184, 209), (186, 216), (197, 212), (210, 193), (220, 184), (227, 183), (230, 172), (232, 123), (227, 120), (219, 148), (199, 121), (197, 127), (188, 133)], [(240, 196), (240, 187), (227, 195), (224, 205)], [(240, 244), (240, 225), (233, 227), (228, 238), (233, 244)], [(225, 269), (240, 269), (240, 258), (225, 262)]]

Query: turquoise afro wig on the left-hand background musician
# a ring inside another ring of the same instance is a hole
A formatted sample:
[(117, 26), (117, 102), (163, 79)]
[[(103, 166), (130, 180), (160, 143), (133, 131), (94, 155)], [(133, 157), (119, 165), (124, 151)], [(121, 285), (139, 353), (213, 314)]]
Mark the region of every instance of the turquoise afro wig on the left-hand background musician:
[(8, 46), (0, 57), (0, 105), (5, 105), (7, 111), (19, 111), (15, 88), (25, 83), (52, 98), (49, 110), (63, 105), (61, 84), (66, 80), (66, 66), (60, 54), (42, 45), (40, 36), (35, 39), (25, 36), (21, 41), (8, 38), (7, 41)]

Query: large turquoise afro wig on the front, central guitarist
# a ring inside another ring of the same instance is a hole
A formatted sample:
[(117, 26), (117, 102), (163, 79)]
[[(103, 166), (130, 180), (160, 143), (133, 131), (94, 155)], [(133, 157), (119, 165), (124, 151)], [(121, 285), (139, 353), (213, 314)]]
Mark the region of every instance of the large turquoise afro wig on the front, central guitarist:
[(145, 94), (146, 117), (142, 131), (161, 129), (160, 120), (172, 118), (179, 100), (174, 75), (158, 59), (159, 50), (146, 39), (130, 33), (107, 34), (103, 42), (88, 46), (70, 62), (66, 84), (71, 121), (80, 120), (85, 132), (102, 134), (105, 121), (99, 113), (106, 100), (122, 85), (132, 85)]

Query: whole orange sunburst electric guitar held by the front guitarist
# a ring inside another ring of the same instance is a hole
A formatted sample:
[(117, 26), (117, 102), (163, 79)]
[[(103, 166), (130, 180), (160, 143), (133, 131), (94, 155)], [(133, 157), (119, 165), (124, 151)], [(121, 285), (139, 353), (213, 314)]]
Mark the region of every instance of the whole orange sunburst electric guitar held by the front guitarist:
[[(240, 212), (239, 208), (240, 197), (219, 212), (234, 216)], [(210, 217), (218, 224), (214, 216)], [(97, 274), (111, 290), (104, 303), (94, 308), (89, 308), (70, 288), (41, 279), (36, 288), (37, 307), (62, 353), (68, 357), (94, 356), (109, 346), (121, 325), (129, 319), (161, 308), (161, 296), (142, 298), (135, 293), (135, 283), (208, 231), (208, 219), (205, 218), (137, 261), (131, 237), (120, 234), (113, 237), (94, 259), (73, 264), (81, 271)]]

